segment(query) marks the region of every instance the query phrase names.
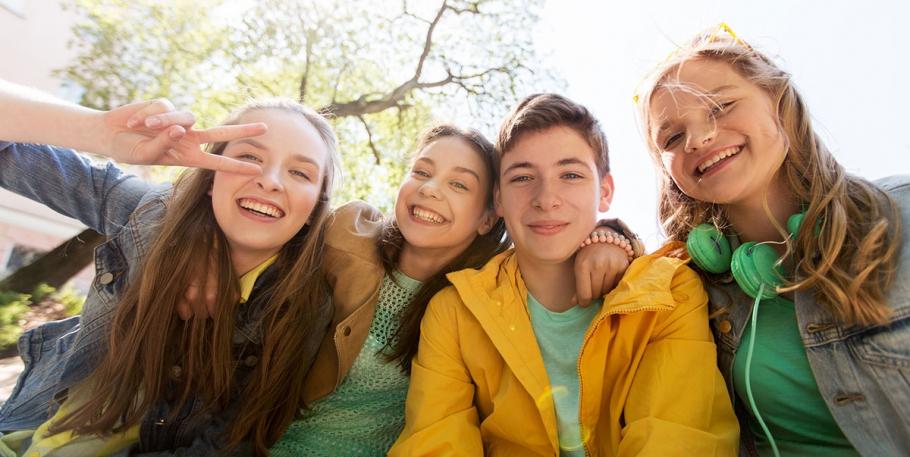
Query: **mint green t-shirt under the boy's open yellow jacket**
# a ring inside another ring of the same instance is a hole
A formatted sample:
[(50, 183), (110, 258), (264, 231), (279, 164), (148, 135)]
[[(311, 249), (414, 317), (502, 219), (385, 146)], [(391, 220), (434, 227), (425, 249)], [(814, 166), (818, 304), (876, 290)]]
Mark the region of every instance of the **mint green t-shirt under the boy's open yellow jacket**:
[(545, 308), (528, 292), (528, 314), (534, 336), (550, 379), (556, 407), (561, 457), (584, 457), (585, 447), (578, 422), (578, 352), (585, 331), (600, 311), (599, 300), (586, 308), (576, 306), (561, 313)]

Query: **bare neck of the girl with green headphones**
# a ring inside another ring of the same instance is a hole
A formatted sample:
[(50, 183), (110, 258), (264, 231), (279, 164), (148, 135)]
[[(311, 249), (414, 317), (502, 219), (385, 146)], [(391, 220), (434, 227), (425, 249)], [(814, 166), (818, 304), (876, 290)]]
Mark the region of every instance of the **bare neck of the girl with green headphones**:
[[(767, 193), (757, 194), (753, 198), (724, 207), (727, 218), (742, 241), (783, 241), (782, 235), (775, 227), (775, 222), (786, 230), (787, 219), (799, 211), (799, 201), (793, 191), (783, 182), (784, 178), (776, 176)], [(770, 216), (765, 212), (767, 201)], [(783, 251), (783, 246), (775, 246)]]

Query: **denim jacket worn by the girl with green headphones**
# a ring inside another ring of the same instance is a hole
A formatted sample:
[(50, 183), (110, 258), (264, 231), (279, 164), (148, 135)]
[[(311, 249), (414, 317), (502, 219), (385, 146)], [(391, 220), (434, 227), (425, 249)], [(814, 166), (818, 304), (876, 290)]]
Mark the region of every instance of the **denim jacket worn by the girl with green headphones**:
[[(813, 291), (794, 295), (809, 365), (837, 425), (863, 456), (910, 454), (910, 176), (875, 182), (897, 202), (902, 247), (888, 291), (892, 314), (886, 325), (844, 326)], [(751, 420), (733, 389), (733, 359), (752, 312), (753, 300), (735, 283), (708, 286), (718, 363), (741, 420)], [(757, 455), (743, 423), (741, 455)]]

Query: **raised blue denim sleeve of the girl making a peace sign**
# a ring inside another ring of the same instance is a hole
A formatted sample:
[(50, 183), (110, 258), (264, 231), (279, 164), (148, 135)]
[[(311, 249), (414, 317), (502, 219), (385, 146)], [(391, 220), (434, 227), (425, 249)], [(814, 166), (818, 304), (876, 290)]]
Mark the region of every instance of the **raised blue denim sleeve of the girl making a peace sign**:
[(0, 141), (0, 186), (112, 235), (152, 186), (72, 149)]

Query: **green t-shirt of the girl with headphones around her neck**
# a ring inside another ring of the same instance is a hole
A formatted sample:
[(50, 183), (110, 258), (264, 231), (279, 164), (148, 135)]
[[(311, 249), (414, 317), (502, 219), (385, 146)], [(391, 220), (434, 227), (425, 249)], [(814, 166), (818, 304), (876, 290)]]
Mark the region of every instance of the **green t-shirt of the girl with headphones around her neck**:
[[(746, 355), (751, 334), (750, 323), (733, 361), (733, 385), (754, 419), (755, 412), (746, 395)], [(755, 405), (781, 455), (859, 456), (818, 392), (792, 301), (778, 297), (759, 304), (750, 378)], [(750, 421), (750, 428), (759, 454), (772, 456), (771, 445), (758, 422)]]

